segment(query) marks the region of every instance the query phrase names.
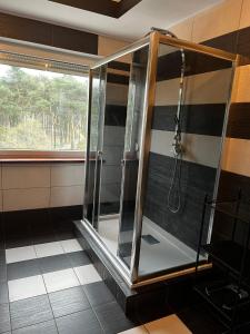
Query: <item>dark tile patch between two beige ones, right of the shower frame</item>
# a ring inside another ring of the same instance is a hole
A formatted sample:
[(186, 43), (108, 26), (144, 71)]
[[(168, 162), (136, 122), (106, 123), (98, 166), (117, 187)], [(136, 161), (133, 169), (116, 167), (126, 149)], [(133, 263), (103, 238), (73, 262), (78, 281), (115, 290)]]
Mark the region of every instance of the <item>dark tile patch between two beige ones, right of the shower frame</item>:
[(231, 105), (227, 137), (250, 139), (250, 102)]

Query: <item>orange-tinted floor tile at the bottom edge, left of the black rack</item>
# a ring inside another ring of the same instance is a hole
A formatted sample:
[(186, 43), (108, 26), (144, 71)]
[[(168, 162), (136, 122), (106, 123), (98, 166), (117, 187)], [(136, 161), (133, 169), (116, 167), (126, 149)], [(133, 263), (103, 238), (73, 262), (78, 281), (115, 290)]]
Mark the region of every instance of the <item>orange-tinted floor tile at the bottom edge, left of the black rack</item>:
[(192, 334), (176, 314), (144, 324), (150, 334)]

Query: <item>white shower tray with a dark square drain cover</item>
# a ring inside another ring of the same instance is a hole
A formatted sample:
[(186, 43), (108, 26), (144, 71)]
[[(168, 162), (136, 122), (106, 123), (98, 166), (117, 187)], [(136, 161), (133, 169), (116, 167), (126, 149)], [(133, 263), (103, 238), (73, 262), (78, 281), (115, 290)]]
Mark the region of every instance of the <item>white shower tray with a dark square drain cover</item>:
[[(124, 246), (129, 246), (132, 242), (132, 230), (121, 232), (121, 234)], [(118, 218), (102, 219), (99, 222), (99, 236), (114, 256), (117, 256), (118, 249)], [(130, 249), (130, 247), (128, 248)], [(120, 254), (120, 257), (130, 266), (130, 254), (129, 256), (122, 256)], [(143, 217), (139, 275), (148, 275), (164, 269), (190, 265), (196, 262), (196, 257), (197, 253), (192, 248), (173, 237), (149, 218)]]

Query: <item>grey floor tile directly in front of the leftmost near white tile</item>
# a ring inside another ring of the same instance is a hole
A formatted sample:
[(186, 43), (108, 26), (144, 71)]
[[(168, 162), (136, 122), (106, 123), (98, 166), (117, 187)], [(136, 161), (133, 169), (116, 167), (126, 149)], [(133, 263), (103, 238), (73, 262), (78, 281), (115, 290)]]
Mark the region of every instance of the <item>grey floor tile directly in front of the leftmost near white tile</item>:
[(47, 295), (10, 303), (12, 330), (53, 318)]

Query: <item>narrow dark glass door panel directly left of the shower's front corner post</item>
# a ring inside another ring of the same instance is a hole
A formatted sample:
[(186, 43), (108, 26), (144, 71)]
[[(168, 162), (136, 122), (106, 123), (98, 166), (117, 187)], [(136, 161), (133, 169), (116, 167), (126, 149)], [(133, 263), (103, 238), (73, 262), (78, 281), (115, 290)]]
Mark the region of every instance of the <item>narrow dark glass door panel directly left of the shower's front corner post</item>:
[(144, 47), (133, 53), (129, 84), (126, 143), (122, 161), (123, 187), (121, 198), (118, 250), (119, 256), (128, 267), (130, 267), (132, 249), (139, 151), (141, 145), (141, 125), (143, 117), (144, 88), (147, 79), (148, 49), (148, 47)]

